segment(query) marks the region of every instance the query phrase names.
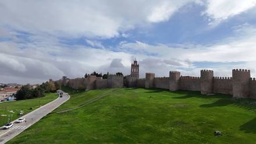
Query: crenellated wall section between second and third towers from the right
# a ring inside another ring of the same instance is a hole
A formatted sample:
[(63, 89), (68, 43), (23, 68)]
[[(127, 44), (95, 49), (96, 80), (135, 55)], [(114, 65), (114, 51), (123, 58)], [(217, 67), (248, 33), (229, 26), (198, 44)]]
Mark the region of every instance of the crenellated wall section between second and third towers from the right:
[(201, 91), (200, 77), (180, 77), (180, 89), (187, 91)]

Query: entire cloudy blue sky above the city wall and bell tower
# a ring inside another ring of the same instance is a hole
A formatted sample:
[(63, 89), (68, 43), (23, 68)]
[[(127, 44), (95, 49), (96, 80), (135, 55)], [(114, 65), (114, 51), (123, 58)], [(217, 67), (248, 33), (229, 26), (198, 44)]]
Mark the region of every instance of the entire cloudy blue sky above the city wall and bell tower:
[(256, 1), (2, 1), (0, 82), (99, 71), (256, 76)]

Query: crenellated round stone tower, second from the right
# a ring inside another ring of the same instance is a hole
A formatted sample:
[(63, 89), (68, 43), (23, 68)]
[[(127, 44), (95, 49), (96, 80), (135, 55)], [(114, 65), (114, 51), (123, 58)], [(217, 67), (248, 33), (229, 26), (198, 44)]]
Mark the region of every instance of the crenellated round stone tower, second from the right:
[(214, 83), (213, 70), (201, 70), (201, 94), (212, 93)]

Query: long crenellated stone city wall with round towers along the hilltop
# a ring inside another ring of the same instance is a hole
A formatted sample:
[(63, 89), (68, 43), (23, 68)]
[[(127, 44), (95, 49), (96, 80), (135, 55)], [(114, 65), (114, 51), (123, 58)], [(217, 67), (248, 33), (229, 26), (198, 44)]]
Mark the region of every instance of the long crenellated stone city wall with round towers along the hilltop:
[[(93, 75), (87, 78), (75, 78), (59, 81), (73, 89), (123, 88), (123, 75), (108, 75), (102, 80)], [(170, 91), (201, 91), (201, 94), (225, 93), (233, 98), (256, 98), (256, 80), (251, 78), (250, 70), (232, 70), (232, 77), (214, 77), (214, 71), (201, 70), (200, 77), (181, 76), (179, 71), (170, 71), (169, 77), (155, 77), (154, 73), (146, 73), (145, 78), (127, 75), (127, 87), (162, 88)]]

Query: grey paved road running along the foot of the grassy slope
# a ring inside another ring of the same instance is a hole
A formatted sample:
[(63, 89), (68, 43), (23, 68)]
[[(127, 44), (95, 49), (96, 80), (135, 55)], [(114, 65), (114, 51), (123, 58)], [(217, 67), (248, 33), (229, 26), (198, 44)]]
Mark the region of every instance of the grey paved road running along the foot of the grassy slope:
[(61, 106), (62, 103), (65, 103), (69, 100), (70, 96), (67, 93), (63, 92), (62, 98), (57, 98), (54, 101), (47, 103), (40, 108), (31, 111), (30, 113), (23, 116), (26, 119), (26, 123), (14, 123), (13, 127), (10, 129), (0, 129), (0, 144), (8, 142), (10, 139), (14, 138), (15, 136), (19, 135), (25, 129), (29, 128), (31, 125), (39, 121), (42, 117), (46, 116), (48, 113), (51, 113), (54, 109)]

